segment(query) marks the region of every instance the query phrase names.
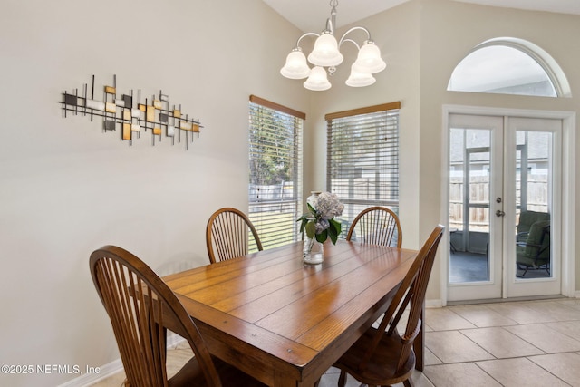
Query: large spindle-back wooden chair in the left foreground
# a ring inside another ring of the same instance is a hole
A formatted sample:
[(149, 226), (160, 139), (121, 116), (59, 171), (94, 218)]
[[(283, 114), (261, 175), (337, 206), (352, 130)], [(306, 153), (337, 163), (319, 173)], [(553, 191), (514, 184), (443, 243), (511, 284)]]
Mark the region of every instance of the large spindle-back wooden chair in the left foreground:
[[(264, 386), (210, 355), (177, 295), (140, 258), (121, 247), (105, 246), (91, 254), (90, 266), (121, 353), (125, 386)], [(170, 378), (165, 323), (187, 339), (194, 353)]]

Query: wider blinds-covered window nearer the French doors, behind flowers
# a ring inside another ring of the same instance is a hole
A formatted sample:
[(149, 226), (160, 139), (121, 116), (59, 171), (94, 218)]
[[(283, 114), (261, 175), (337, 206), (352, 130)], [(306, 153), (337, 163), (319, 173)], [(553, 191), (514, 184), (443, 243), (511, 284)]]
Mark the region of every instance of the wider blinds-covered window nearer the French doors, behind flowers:
[(326, 184), (343, 202), (343, 237), (364, 208), (399, 209), (401, 102), (327, 114)]

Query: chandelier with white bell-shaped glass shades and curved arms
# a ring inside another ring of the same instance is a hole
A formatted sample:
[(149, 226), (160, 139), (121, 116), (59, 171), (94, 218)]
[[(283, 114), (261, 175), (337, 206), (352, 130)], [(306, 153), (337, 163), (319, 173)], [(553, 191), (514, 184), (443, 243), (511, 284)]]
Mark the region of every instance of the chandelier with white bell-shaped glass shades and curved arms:
[[(331, 0), (331, 17), (326, 20), (326, 27), (321, 34), (305, 33), (298, 38), (295, 48), (286, 57), (286, 63), (280, 73), (290, 79), (304, 79), (304, 87), (308, 90), (323, 91), (331, 88), (328, 81), (328, 70), (330, 75), (336, 71), (336, 66), (343, 63), (343, 54), (339, 51), (344, 43), (352, 43), (358, 50), (356, 61), (351, 65), (351, 74), (346, 80), (346, 84), (352, 87), (369, 86), (376, 82), (373, 73), (379, 73), (387, 66), (381, 58), (381, 50), (371, 39), (371, 33), (364, 27), (353, 27), (343, 34), (339, 41), (334, 37), (336, 26), (336, 6), (338, 0)], [(346, 36), (353, 31), (362, 30), (367, 34), (362, 46), (348, 39)], [(314, 42), (312, 53), (308, 54), (308, 62), (314, 64), (311, 69), (306, 63), (306, 56), (300, 47), (300, 41), (306, 36), (317, 36)]]

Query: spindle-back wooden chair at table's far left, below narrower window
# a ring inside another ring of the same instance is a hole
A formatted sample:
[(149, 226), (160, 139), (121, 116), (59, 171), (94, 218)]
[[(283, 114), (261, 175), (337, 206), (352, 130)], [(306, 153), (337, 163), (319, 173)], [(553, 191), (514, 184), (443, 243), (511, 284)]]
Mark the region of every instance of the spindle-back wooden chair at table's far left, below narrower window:
[(252, 242), (248, 241), (250, 234), (257, 250), (262, 251), (256, 227), (247, 215), (237, 208), (219, 208), (209, 217), (206, 227), (209, 263), (246, 256)]

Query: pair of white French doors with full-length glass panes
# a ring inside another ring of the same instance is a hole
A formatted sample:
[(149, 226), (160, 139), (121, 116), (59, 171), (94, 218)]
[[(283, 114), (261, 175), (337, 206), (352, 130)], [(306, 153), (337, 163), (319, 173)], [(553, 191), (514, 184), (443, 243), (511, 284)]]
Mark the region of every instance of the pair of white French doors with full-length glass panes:
[(449, 115), (448, 300), (561, 293), (562, 121)]

